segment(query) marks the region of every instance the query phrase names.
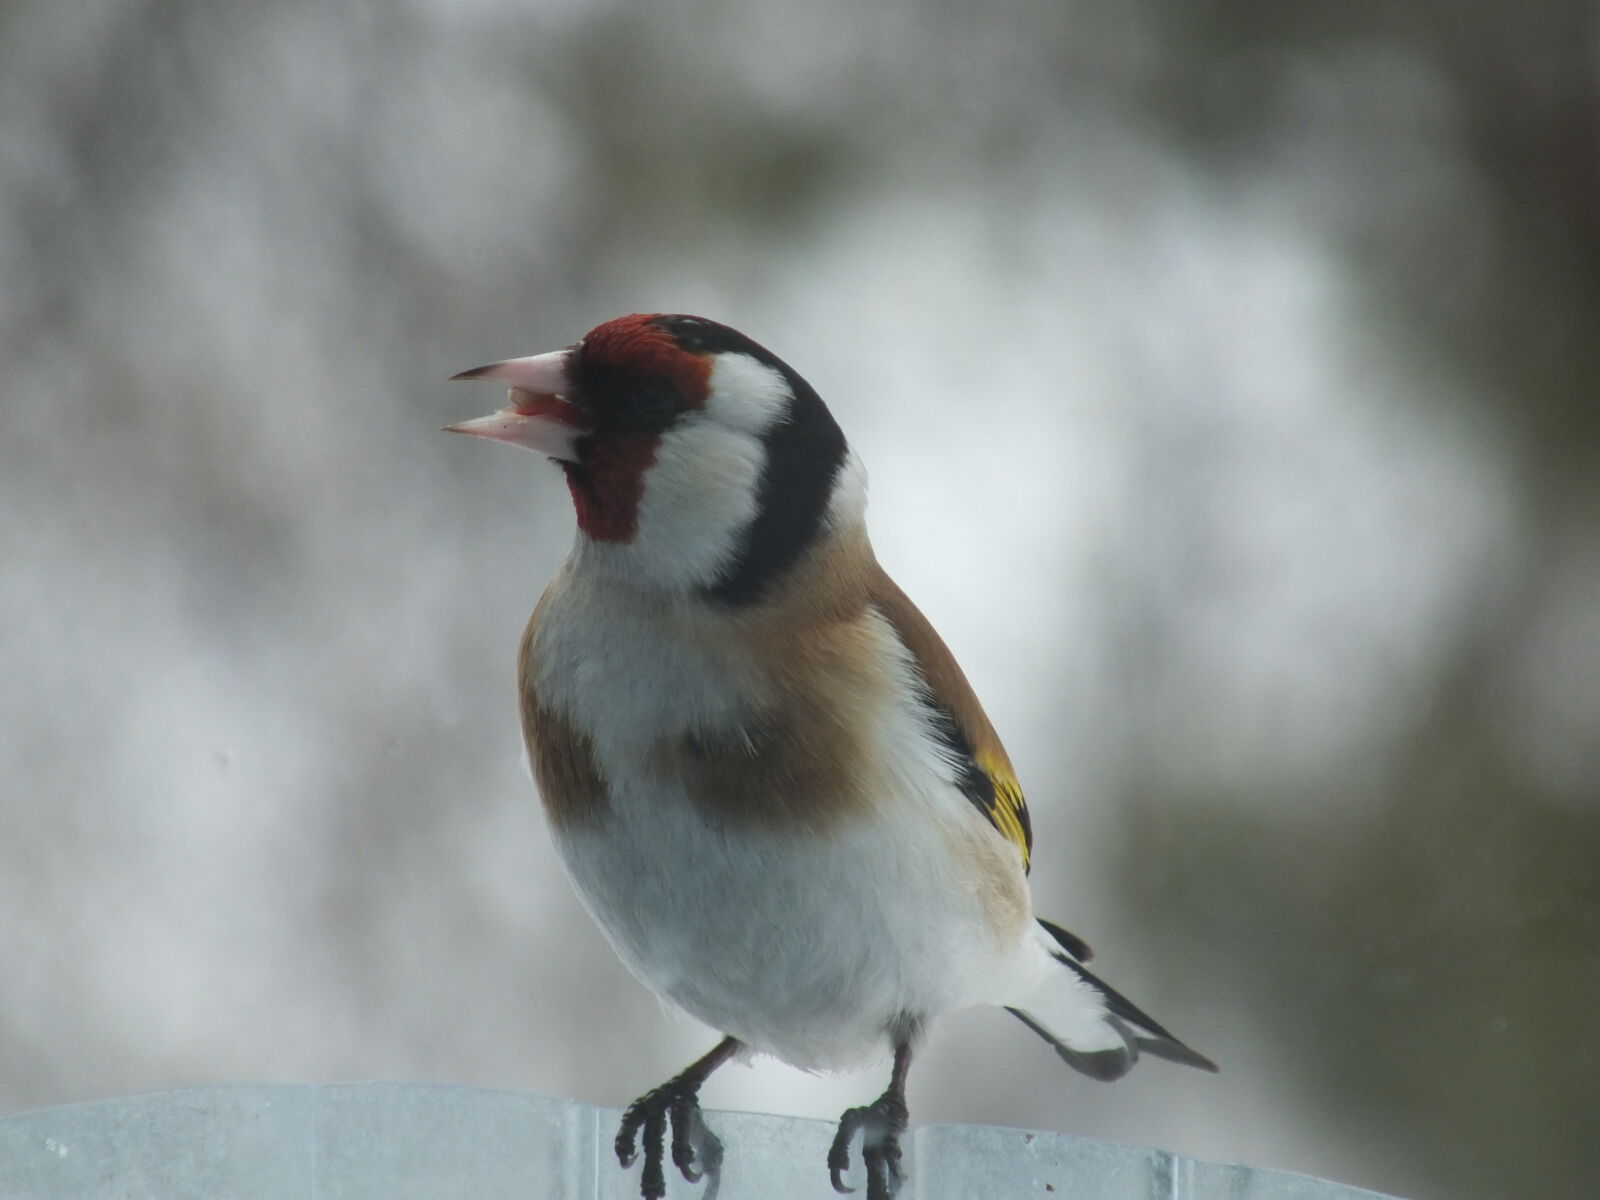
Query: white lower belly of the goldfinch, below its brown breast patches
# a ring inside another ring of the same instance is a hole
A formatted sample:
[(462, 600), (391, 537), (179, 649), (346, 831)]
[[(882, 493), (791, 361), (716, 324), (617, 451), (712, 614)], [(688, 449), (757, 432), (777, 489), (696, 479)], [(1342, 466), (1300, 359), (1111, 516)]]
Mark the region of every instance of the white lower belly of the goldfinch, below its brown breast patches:
[(557, 842), (618, 955), (691, 1016), (795, 1066), (872, 1058), (891, 1029), (984, 998), (1003, 957), (952, 861), (950, 838), (973, 830), (947, 813), (910, 822), (894, 805), (824, 842), (718, 829), (670, 792), (613, 805), (603, 827)]

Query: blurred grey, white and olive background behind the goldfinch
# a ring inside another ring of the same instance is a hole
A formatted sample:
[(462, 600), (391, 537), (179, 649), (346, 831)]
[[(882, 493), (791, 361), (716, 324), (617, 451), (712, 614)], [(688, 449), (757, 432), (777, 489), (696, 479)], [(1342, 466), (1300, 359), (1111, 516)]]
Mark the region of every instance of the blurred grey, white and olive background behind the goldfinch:
[(6, 0), (0, 264), (0, 1110), (710, 1045), (523, 774), (565, 488), (438, 434), (683, 310), (830, 402), (1040, 912), (1224, 1067), (962, 1014), (915, 1120), (1600, 1194), (1595, 3)]

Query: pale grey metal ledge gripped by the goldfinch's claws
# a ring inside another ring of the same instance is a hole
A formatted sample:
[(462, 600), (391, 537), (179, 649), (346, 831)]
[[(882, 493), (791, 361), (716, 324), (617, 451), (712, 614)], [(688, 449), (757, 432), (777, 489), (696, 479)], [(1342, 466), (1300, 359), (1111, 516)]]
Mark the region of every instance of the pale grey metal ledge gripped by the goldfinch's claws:
[[(717, 1200), (837, 1200), (832, 1125), (707, 1112)], [(0, 1118), (0, 1200), (635, 1200), (618, 1114), (418, 1083), (237, 1085)], [(914, 1126), (899, 1200), (1357, 1200), (1358, 1187), (1061, 1133)], [(853, 1178), (853, 1182), (861, 1182)], [(678, 1178), (669, 1195), (702, 1197)]]

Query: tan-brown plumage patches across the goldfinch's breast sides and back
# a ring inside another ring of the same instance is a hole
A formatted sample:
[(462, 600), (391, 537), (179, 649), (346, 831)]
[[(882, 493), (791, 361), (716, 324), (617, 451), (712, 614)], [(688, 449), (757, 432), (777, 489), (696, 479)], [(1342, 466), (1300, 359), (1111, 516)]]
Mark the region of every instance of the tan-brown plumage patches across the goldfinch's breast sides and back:
[[(538, 694), (531, 643), (542, 608), (541, 598), (518, 651), (528, 758), (550, 822), (589, 824), (605, 814), (606, 781), (589, 738)], [(870, 789), (880, 781), (872, 778), (867, 731), (898, 685), (874, 613), (890, 622), (958, 734), (963, 766), (982, 782), (982, 795), (963, 786), (968, 798), (1026, 866), (1027, 810), (1005, 749), (955, 658), (877, 563), (859, 525), (819, 539), (765, 602), (670, 629), (730, 664), (728, 686), (744, 693), (747, 717), (734, 728), (662, 738), (651, 765), (730, 824), (822, 834), (870, 811)]]

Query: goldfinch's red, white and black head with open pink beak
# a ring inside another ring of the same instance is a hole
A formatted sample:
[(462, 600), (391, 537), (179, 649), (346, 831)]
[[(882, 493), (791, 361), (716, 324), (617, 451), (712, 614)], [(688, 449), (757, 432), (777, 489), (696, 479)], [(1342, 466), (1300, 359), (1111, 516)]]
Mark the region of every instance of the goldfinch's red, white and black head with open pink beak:
[(456, 379), (510, 397), (450, 429), (555, 459), (586, 562), (635, 582), (750, 605), (821, 536), (861, 522), (864, 478), (827, 406), (725, 325), (618, 317)]

